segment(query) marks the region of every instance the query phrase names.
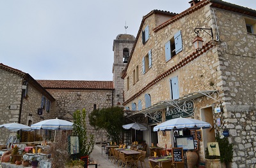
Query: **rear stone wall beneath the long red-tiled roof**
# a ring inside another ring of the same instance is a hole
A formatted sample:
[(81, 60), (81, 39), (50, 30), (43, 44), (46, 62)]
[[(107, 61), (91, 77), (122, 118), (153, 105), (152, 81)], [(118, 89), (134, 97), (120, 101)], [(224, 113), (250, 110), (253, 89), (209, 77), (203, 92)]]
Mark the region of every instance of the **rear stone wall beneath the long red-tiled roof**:
[[(113, 90), (47, 90), (56, 99), (56, 111), (54, 116), (63, 120), (73, 120), (73, 113), (76, 110), (86, 109), (87, 115), (96, 108), (108, 108), (112, 106)], [(88, 121), (88, 120), (87, 120)], [(95, 142), (100, 143), (103, 139), (107, 139), (106, 132), (103, 130), (95, 130), (87, 124), (88, 133), (95, 135)]]

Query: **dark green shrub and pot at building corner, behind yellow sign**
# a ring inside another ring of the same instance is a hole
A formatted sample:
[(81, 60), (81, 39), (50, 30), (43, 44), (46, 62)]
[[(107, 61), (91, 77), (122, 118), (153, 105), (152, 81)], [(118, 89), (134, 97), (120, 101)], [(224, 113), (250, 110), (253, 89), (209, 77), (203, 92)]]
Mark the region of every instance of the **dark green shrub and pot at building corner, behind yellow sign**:
[(226, 167), (233, 158), (233, 144), (228, 142), (228, 137), (216, 136), (216, 142), (219, 144), (220, 156), (210, 156), (208, 148), (205, 149), (205, 167)]

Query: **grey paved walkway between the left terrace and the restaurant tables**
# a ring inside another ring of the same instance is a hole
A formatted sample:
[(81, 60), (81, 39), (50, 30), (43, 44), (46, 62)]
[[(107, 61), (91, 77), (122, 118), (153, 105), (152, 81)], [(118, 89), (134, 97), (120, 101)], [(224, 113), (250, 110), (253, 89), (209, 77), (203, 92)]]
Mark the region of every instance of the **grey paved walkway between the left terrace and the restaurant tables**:
[[(108, 155), (106, 155), (106, 152), (104, 151), (104, 149), (101, 150), (100, 144), (94, 145), (94, 149), (90, 157), (92, 157), (93, 160), (95, 160), (98, 163), (99, 168), (114, 168), (118, 166), (116, 163), (114, 164), (114, 160), (111, 162), (111, 160), (108, 159)], [(145, 162), (146, 162), (147, 168), (149, 168), (148, 158), (145, 159)], [(143, 168), (145, 168), (145, 165), (143, 163), (142, 165), (143, 165)], [(89, 165), (88, 167), (94, 168), (95, 165)], [(140, 163), (139, 163), (139, 167), (141, 167)], [(121, 168), (121, 166), (119, 166), (118, 168)]]

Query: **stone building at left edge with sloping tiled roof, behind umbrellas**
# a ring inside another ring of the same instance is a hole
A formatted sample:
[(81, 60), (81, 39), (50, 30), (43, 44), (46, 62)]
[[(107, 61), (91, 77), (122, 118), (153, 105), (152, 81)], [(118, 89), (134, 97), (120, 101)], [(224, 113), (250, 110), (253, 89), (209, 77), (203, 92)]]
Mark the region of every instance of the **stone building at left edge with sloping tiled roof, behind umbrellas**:
[[(0, 79), (0, 124), (31, 125), (54, 116), (54, 97), (28, 73), (0, 64)], [(0, 143), (5, 144), (12, 132), (0, 132)]]

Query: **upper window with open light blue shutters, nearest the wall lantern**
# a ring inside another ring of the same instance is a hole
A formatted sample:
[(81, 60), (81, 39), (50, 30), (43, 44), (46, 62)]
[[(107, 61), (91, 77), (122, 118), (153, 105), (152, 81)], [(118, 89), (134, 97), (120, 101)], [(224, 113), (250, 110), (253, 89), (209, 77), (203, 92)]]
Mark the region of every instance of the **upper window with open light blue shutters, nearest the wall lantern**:
[(181, 31), (174, 34), (173, 38), (164, 45), (164, 49), (166, 61), (170, 60), (174, 55), (182, 51)]

